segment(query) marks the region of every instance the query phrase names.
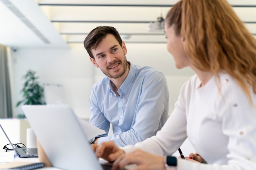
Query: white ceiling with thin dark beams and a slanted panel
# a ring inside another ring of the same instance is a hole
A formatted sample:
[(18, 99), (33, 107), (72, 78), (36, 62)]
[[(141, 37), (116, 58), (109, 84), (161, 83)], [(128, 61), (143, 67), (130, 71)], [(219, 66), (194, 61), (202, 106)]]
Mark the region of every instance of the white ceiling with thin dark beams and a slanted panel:
[[(177, 1), (0, 0), (0, 44), (67, 48), (82, 43), (95, 27), (106, 25), (116, 27), (126, 43), (165, 43), (163, 30), (147, 28)], [(256, 0), (228, 2), (256, 37)]]

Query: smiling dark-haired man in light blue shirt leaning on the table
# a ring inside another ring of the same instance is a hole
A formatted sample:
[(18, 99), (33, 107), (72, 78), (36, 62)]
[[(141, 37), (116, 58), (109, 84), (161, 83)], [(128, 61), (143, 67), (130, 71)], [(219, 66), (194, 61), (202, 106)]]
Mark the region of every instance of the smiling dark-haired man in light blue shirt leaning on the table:
[[(93, 143), (134, 145), (156, 134), (168, 117), (169, 93), (164, 75), (126, 60), (126, 45), (111, 26), (93, 29), (84, 46), (95, 67), (106, 75), (92, 87), (90, 124), (106, 134)], [(108, 136), (110, 123), (113, 134)]]

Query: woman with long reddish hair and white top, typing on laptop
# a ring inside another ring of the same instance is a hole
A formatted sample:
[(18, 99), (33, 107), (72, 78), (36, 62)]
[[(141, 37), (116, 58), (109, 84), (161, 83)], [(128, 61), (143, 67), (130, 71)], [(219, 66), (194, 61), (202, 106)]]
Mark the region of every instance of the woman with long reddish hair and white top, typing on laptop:
[(135, 146), (93, 145), (114, 168), (164, 170), (188, 137), (208, 164), (178, 159), (177, 170), (256, 170), (256, 40), (225, 0), (180, 0), (165, 20), (177, 68), (196, 75), (180, 91), (157, 135)]

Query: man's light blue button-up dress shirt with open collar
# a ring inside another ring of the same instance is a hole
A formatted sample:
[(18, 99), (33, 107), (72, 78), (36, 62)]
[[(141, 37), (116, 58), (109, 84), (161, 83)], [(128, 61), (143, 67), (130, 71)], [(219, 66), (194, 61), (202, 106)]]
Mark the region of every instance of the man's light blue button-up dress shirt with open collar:
[[(129, 62), (130, 63), (130, 62)], [(105, 130), (98, 144), (114, 141), (117, 146), (134, 145), (156, 134), (168, 118), (169, 92), (163, 73), (130, 63), (129, 73), (118, 89), (106, 76), (92, 87), (90, 124)], [(110, 123), (113, 134), (108, 136)]]

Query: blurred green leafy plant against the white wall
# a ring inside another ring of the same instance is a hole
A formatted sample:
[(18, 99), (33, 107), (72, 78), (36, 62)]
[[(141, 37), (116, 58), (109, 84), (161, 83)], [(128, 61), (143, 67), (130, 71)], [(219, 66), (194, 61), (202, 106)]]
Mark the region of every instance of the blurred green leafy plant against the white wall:
[[(16, 107), (20, 106), (20, 104), (30, 105), (30, 104), (45, 104), (43, 101), (43, 87), (40, 86), (38, 82), (38, 76), (36, 76), (36, 72), (32, 70), (28, 70), (27, 73), (22, 77), (25, 80), (22, 90), (23, 99), (18, 101)], [(19, 114), (18, 118), (25, 117), (24, 114)]]

